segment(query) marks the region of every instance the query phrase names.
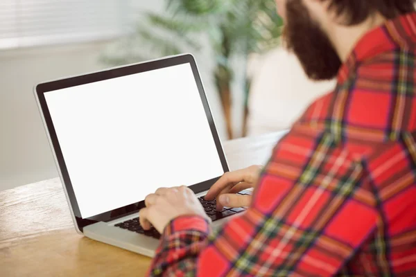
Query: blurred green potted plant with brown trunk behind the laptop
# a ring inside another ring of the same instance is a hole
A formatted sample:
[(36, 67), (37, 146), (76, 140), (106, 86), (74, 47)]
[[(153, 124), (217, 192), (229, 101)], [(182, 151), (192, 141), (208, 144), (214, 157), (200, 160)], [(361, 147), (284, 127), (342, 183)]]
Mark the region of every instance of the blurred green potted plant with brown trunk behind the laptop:
[[(279, 43), (282, 21), (276, 13), (275, 0), (166, 0), (166, 11), (167, 16), (148, 12), (148, 26), (137, 24), (135, 32), (123, 41), (121, 54), (106, 56), (105, 62), (125, 64), (150, 58), (150, 54), (146, 56), (141, 51), (143, 42), (157, 55), (176, 55), (186, 52), (185, 48), (199, 51), (201, 36), (207, 36), (216, 56), (214, 80), (227, 134), (232, 139), (231, 83), (236, 69), (230, 60), (234, 55), (248, 57), (250, 53), (267, 51)], [(249, 87), (250, 80), (246, 80), (246, 99)]]

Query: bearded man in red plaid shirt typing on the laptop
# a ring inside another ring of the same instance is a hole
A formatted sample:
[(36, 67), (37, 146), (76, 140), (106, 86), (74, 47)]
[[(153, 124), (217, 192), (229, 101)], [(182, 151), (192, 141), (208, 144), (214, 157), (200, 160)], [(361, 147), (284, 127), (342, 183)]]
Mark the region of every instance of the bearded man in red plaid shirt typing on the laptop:
[[(260, 168), (206, 198), (250, 206), (218, 233), (185, 187), (146, 197), (163, 233), (152, 276), (416, 276), (416, 12), (412, 0), (277, 0), (310, 78), (337, 77)], [(259, 178), (257, 178), (259, 177)], [(258, 179), (256, 181), (256, 179)], [(252, 198), (235, 195), (254, 187)]]

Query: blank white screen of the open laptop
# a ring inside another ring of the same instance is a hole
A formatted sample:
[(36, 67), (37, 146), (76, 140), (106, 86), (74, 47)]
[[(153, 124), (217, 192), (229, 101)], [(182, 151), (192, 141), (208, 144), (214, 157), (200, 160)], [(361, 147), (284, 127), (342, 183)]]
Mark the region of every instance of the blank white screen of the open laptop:
[(189, 63), (44, 97), (83, 218), (224, 173)]

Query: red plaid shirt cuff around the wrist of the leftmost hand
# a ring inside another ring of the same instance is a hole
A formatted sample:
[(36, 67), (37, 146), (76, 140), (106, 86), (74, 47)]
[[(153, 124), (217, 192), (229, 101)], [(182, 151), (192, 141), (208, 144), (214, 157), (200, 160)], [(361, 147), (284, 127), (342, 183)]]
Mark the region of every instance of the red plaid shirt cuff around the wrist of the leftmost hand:
[(211, 229), (209, 220), (200, 215), (180, 215), (168, 223), (163, 234), (168, 236), (180, 231), (199, 231), (209, 235)]

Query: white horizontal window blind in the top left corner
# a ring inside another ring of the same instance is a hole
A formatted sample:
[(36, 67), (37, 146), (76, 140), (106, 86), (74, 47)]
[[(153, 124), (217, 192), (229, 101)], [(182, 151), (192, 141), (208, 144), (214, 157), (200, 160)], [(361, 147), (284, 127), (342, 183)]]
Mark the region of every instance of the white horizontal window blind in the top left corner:
[(93, 41), (121, 35), (128, 0), (0, 0), (0, 48)]

